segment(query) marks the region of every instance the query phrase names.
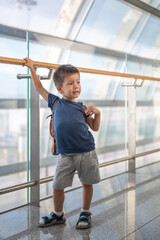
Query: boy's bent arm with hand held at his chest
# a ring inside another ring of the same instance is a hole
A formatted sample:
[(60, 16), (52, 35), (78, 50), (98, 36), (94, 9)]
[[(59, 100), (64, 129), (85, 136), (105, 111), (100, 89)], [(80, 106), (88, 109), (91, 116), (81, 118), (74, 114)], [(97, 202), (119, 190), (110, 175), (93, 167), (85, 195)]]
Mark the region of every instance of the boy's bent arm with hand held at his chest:
[[(89, 106), (85, 111), (86, 123), (93, 131), (98, 131), (100, 127), (101, 112), (94, 106)], [(94, 117), (92, 116), (94, 114)], [(89, 115), (89, 116), (88, 116)], [(87, 117), (88, 116), (88, 117)]]

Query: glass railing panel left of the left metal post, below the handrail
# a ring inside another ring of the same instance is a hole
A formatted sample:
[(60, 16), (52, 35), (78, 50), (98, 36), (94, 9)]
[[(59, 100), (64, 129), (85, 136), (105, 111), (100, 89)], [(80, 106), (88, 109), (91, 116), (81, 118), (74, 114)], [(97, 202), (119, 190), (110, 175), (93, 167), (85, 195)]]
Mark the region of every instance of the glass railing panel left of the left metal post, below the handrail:
[[(7, 49), (3, 50), (7, 53)], [(27, 81), (16, 79), (17, 73), (25, 70), (0, 64), (1, 188), (27, 181)], [(1, 195), (0, 211), (27, 203), (27, 190), (22, 192), (22, 197), (17, 192)]]

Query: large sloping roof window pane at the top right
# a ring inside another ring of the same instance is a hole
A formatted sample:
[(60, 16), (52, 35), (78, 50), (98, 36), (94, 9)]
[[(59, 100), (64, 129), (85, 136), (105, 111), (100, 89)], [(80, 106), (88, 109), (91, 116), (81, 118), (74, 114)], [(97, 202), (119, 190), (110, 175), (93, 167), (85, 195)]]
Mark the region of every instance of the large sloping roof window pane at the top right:
[(76, 40), (159, 59), (159, 25), (159, 19), (120, 1), (96, 0)]

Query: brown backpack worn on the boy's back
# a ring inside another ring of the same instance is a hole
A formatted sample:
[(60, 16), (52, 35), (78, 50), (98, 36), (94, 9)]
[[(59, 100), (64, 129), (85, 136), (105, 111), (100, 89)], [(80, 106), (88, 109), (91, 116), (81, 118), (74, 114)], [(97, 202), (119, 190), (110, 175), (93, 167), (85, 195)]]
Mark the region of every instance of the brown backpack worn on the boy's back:
[(52, 139), (52, 147), (51, 147), (52, 155), (58, 155), (58, 153), (56, 152), (56, 138), (55, 138), (55, 134), (54, 134), (54, 109), (55, 109), (56, 103), (58, 101), (59, 101), (59, 98), (57, 98), (53, 104), (52, 114), (50, 114), (46, 117), (46, 119), (49, 117), (51, 118), (50, 123), (49, 123), (49, 132), (50, 132), (51, 137), (53, 138)]

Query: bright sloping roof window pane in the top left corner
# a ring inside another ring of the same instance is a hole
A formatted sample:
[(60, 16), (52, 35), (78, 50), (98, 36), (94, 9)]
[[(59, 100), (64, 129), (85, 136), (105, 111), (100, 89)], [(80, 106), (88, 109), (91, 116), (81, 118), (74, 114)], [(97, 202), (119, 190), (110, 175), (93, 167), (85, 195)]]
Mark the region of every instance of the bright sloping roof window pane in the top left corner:
[(0, 5), (0, 24), (53, 34), (63, 2), (64, 0), (2, 0)]

